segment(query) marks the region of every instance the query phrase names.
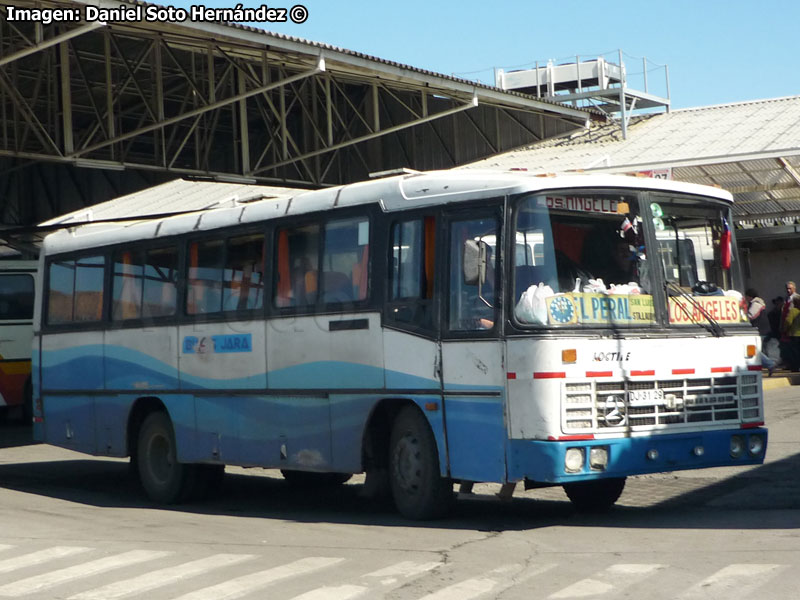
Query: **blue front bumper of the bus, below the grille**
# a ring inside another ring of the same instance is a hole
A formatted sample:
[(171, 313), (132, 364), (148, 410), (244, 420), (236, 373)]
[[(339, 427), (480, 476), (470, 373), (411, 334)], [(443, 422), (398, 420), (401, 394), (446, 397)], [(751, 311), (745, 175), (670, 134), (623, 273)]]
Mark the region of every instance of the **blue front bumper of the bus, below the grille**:
[[(744, 445), (737, 458), (731, 456), (733, 436), (738, 436)], [(752, 436), (760, 436), (763, 441), (756, 455), (748, 451)], [(608, 450), (608, 466), (602, 470), (589, 464), (590, 449), (598, 446)], [(584, 449), (583, 466), (574, 473), (566, 472), (564, 467), (568, 448)], [(763, 428), (593, 440), (510, 440), (508, 480), (562, 484), (602, 477), (754, 465), (764, 462), (766, 448), (767, 430)]]

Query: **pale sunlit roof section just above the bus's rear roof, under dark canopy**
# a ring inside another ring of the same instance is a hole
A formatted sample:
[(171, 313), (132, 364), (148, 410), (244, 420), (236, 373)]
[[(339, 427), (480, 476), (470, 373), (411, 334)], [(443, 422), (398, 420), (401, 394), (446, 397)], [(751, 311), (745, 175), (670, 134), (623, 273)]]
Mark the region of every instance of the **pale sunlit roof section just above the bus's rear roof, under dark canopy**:
[(127, 196), (114, 198), (108, 202), (95, 204), (89, 208), (61, 215), (42, 223), (42, 225), (110, 219), (138, 219), (154, 215), (232, 207), (236, 203), (247, 203), (261, 199), (292, 198), (304, 191), (306, 190), (265, 185), (176, 179)]

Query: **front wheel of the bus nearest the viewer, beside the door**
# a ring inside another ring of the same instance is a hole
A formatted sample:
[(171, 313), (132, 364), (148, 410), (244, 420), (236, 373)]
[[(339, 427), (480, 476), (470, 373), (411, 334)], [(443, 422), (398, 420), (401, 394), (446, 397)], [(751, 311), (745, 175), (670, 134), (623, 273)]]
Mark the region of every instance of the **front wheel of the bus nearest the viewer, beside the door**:
[(453, 483), (439, 474), (436, 440), (416, 407), (403, 408), (392, 424), (389, 485), (398, 512), (408, 519), (443, 517), (453, 502)]

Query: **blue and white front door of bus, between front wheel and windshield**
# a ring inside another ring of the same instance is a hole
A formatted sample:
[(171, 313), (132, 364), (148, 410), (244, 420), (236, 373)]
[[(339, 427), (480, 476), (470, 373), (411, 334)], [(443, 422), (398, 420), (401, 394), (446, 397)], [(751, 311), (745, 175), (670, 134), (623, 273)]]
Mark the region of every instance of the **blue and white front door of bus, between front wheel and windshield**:
[(501, 481), (505, 475), (500, 215), (498, 207), (446, 221), (442, 387), (450, 474), (456, 479)]

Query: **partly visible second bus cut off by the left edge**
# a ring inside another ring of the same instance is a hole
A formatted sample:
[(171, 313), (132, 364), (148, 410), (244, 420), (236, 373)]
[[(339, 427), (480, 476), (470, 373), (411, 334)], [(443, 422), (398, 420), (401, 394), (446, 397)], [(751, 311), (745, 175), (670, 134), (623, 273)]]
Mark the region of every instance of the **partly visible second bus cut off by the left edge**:
[(36, 261), (0, 261), (0, 416), (31, 420)]

